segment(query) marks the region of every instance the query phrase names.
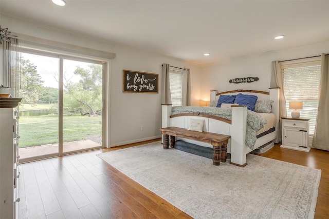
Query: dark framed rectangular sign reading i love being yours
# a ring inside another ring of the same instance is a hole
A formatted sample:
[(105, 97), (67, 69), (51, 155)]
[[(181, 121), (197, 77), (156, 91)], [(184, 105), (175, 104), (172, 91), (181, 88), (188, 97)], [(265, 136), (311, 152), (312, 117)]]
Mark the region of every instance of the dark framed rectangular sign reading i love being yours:
[(158, 74), (123, 70), (123, 92), (159, 93)]

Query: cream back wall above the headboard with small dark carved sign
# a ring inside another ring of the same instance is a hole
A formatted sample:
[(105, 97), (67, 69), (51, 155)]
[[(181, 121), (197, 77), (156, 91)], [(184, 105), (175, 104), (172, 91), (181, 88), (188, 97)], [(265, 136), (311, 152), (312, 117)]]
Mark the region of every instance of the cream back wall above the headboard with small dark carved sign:
[[(203, 66), (200, 98), (209, 100), (209, 90), (218, 90), (220, 92), (236, 89), (268, 91), (272, 61), (309, 57), (321, 55), (321, 53), (329, 53), (329, 41)], [(249, 76), (259, 77), (259, 81), (240, 84), (229, 83), (230, 79)]]

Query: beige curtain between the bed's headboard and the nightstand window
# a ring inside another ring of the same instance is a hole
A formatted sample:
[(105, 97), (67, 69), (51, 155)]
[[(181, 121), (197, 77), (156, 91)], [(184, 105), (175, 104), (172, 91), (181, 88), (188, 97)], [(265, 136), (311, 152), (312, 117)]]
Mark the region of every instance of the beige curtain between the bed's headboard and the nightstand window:
[(286, 109), (286, 99), (284, 98), (284, 91), (283, 91), (283, 77), (282, 77), (282, 71), (281, 71), (281, 64), (279, 63), (279, 61), (272, 62), (270, 87), (271, 88), (274, 88), (274, 87), (280, 88), (278, 141), (282, 142), (281, 117), (287, 116), (287, 109)]

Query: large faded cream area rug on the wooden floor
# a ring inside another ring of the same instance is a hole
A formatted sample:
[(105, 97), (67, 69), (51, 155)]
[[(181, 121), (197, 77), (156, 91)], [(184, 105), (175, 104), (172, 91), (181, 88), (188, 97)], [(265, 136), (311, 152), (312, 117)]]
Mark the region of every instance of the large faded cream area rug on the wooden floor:
[(160, 142), (98, 156), (193, 218), (314, 218), (321, 170), (253, 154), (214, 166)]

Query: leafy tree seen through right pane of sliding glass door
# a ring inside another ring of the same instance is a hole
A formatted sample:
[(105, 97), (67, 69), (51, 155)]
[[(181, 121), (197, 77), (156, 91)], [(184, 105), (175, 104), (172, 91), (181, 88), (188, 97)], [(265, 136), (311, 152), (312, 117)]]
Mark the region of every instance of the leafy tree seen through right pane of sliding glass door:
[(92, 64), (87, 69), (77, 66), (74, 74), (81, 77), (79, 83), (72, 83), (64, 77), (64, 107), (67, 110), (86, 112), (89, 116), (101, 111), (102, 66)]

